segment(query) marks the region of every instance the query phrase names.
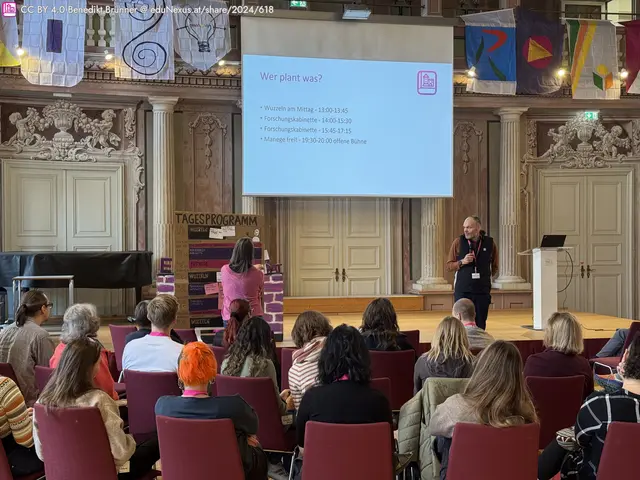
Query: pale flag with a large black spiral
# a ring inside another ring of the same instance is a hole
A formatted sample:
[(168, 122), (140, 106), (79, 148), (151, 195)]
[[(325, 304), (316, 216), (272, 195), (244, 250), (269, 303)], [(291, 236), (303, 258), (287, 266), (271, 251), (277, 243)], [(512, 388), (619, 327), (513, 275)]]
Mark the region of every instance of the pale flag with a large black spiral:
[(174, 80), (171, 0), (115, 0), (117, 78)]

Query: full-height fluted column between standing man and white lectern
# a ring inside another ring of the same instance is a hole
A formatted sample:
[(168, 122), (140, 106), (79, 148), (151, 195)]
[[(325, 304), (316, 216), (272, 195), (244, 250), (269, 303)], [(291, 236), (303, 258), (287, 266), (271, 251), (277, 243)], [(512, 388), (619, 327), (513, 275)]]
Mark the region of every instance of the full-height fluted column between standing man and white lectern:
[(508, 107), (500, 115), (500, 244), (498, 278), (493, 288), (529, 290), (531, 284), (518, 275), (518, 215), (520, 214), (520, 118), (526, 107)]

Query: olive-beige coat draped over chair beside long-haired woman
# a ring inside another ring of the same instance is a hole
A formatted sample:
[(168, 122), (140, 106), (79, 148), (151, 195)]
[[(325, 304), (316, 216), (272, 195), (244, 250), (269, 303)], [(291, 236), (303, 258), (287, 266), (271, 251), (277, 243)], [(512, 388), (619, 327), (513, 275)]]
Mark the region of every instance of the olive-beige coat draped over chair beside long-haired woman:
[(468, 381), (468, 378), (428, 378), (422, 390), (400, 409), (398, 450), (414, 453), (421, 480), (440, 479), (440, 463), (432, 448), (435, 438), (428, 432), (431, 416), (447, 398), (461, 393)]

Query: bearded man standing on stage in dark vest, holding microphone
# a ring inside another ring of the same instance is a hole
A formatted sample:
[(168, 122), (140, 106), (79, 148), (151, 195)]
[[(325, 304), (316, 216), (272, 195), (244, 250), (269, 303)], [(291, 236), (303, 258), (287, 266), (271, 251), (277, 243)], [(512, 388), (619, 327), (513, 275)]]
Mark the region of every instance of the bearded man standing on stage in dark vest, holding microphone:
[(462, 228), (464, 233), (451, 244), (447, 270), (456, 272), (455, 301), (471, 300), (476, 309), (476, 324), (486, 329), (491, 281), (498, 273), (498, 249), (493, 238), (481, 230), (478, 217), (467, 217)]

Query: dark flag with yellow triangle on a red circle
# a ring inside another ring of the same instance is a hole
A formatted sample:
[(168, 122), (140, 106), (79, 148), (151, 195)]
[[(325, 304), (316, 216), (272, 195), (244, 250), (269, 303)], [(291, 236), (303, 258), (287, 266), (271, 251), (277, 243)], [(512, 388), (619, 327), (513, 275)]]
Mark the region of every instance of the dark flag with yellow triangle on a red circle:
[(564, 25), (522, 7), (518, 7), (516, 18), (516, 92), (527, 95), (557, 92), (562, 87), (562, 79), (556, 72), (562, 65)]

